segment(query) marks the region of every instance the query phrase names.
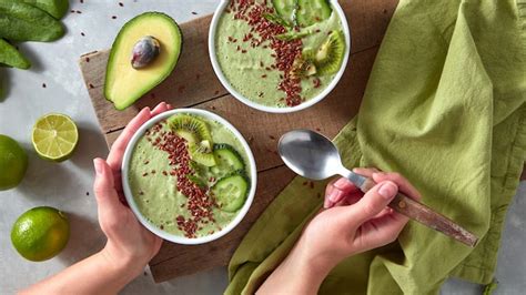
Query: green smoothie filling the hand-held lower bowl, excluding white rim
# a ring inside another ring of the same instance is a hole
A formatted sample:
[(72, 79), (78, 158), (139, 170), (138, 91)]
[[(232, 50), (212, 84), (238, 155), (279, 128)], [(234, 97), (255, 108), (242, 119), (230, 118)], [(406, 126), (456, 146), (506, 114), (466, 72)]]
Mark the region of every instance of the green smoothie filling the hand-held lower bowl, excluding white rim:
[[(211, 150), (194, 149), (200, 142), (206, 142)], [(224, 146), (229, 151), (221, 150)], [(223, 154), (234, 154), (235, 163), (222, 159)], [(214, 165), (198, 163), (194, 156), (212, 159)], [(229, 129), (203, 116), (175, 114), (150, 128), (138, 141), (128, 177), (139, 211), (150, 223), (174, 235), (199, 237), (221, 231), (237, 215), (250, 186), (247, 165), (243, 145)], [(246, 192), (234, 195), (240, 200), (229, 207), (232, 192), (216, 186), (237, 174), (246, 180)]]

